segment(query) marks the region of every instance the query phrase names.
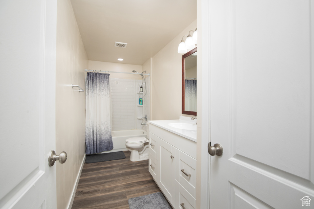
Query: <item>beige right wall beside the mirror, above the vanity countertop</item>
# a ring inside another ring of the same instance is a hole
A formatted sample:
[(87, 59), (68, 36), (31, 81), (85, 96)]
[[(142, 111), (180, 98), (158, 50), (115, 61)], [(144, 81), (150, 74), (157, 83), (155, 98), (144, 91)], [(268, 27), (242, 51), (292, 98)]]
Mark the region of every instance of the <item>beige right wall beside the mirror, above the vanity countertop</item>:
[(152, 120), (179, 119), (182, 115), (182, 54), (178, 46), (182, 36), (195, 28), (196, 20), (153, 57)]

